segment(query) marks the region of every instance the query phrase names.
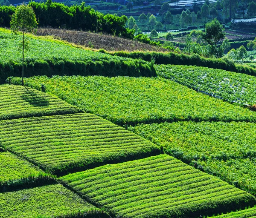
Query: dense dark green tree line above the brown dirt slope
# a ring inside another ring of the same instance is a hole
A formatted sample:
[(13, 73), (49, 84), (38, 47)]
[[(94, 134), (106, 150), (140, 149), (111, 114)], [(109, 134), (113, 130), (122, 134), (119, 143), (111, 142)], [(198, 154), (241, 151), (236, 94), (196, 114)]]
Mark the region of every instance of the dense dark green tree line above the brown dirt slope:
[[(35, 11), (38, 26), (54, 28), (82, 29), (94, 32), (105, 32), (116, 36), (134, 38), (134, 30), (125, 28), (126, 16), (102, 14), (99, 11), (81, 5), (65, 6), (47, 0), (46, 3), (30, 2)], [(0, 6), (0, 26), (10, 27), (14, 6)]]

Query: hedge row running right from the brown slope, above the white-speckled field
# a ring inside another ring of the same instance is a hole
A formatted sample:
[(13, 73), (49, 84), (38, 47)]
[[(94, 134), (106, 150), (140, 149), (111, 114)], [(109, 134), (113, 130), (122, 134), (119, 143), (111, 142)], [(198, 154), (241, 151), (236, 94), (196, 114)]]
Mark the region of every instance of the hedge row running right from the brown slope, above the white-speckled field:
[(178, 54), (175, 52), (113, 52), (109, 53), (120, 57), (130, 57), (134, 59), (143, 59), (146, 61), (154, 60), (155, 64), (174, 64), (174, 65), (192, 65), (204, 66), (213, 69), (223, 69), (231, 72), (244, 73), (256, 76), (256, 69), (248, 66), (236, 65), (232, 60), (226, 58), (205, 58), (198, 54)]

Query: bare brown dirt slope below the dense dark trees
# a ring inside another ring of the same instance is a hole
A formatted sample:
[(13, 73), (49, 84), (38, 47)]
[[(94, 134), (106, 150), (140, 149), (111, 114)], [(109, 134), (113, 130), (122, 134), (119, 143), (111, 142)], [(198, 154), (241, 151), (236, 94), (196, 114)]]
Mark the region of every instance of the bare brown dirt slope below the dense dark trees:
[(99, 34), (67, 29), (41, 28), (38, 29), (37, 35), (52, 35), (58, 39), (66, 40), (70, 43), (90, 47), (91, 49), (105, 49), (107, 51), (167, 51), (167, 49), (163, 49), (157, 46), (151, 46), (135, 40), (128, 40), (109, 34)]

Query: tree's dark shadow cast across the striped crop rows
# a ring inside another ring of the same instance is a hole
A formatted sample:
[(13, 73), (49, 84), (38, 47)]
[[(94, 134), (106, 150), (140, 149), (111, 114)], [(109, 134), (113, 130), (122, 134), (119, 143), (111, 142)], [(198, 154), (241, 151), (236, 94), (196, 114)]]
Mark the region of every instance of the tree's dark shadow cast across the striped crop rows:
[(38, 93), (38, 91), (24, 87), (24, 92), (22, 93), (22, 99), (35, 107), (48, 106), (49, 101), (44, 98), (44, 95)]

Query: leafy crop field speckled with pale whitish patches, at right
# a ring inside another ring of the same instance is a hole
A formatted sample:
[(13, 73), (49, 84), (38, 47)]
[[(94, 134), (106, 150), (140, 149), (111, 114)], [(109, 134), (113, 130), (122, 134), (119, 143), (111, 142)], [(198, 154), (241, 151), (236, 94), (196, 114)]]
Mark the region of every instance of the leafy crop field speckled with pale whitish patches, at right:
[(160, 77), (171, 79), (207, 95), (244, 105), (256, 104), (256, 78), (197, 66), (156, 65)]

